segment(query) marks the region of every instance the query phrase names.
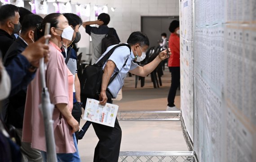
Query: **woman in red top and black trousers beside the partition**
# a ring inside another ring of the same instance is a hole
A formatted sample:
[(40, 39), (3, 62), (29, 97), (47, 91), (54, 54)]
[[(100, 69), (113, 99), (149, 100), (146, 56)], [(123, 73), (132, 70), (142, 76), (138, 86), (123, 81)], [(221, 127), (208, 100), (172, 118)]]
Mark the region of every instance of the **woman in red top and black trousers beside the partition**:
[(174, 99), (177, 88), (180, 86), (180, 22), (173, 20), (169, 26), (169, 31), (171, 32), (169, 48), (172, 54), (168, 60), (168, 67), (172, 74), (172, 83), (168, 94), (167, 111), (178, 110), (174, 105)]

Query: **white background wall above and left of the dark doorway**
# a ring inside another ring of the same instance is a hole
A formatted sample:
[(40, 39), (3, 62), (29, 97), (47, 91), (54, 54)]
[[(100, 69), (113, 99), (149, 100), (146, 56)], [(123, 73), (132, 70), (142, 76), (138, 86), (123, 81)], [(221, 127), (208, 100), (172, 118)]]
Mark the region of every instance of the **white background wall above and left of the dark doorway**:
[[(121, 43), (125, 43), (133, 31), (141, 31), (141, 16), (177, 16), (179, 15), (179, 0), (71, 0), (71, 3), (91, 4), (91, 15), (94, 15), (94, 5), (108, 6), (110, 15), (109, 27), (114, 27)], [(115, 12), (111, 11), (115, 8)], [(91, 16), (91, 20), (93, 18)], [(89, 41), (89, 40), (88, 40)], [(82, 42), (81, 42), (82, 43)], [(86, 42), (84, 42), (86, 43)], [(80, 52), (91, 53), (89, 47)], [(87, 59), (83, 55), (82, 59)]]

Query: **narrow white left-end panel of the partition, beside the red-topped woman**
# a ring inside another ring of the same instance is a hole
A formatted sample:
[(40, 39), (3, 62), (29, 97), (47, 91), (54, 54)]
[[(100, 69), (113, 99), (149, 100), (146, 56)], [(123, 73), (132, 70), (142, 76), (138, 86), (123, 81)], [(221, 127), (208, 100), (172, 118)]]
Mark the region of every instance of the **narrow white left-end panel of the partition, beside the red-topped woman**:
[(181, 108), (182, 116), (193, 142), (194, 137), (194, 89), (193, 89), (193, 4), (183, 1), (180, 4), (180, 41), (181, 41)]

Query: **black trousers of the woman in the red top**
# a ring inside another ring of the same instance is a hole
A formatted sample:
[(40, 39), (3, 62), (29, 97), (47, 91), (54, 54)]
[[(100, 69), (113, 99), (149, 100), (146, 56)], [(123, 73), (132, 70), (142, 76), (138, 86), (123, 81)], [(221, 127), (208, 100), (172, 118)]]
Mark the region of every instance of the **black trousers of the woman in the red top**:
[(181, 72), (180, 67), (169, 67), (172, 75), (171, 87), (168, 94), (168, 106), (173, 107), (176, 91), (180, 87)]

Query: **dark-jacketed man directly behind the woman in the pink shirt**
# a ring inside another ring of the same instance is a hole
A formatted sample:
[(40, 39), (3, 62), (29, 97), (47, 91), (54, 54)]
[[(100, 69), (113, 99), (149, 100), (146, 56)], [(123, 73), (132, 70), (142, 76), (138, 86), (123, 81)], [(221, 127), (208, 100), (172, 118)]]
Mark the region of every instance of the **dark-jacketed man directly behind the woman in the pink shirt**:
[[(34, 43), (35, 28), (37, 24), (42, 22), (42, 20), (43, 18), (41, 18), (39, 15), (29, 14), (25, 16), (24, 20), (22, 21), (22, 31), (20, 36), (10, 46), (9, 50), (4, 56), (4, 66), (8, 66), (9, 63), (15, 57), (20, 55), (20, 53), (22, 53), (28, 45)], [(33, 79), (34, 74), (35, 70), (27, 70), (25, 79), (28, 81), (28, 83)], [(9, 98), (5, 100), (4, 105), (4, 109), (7, 111), (4, 122), (8, 125), (13, 125), (16, 128), (20, 139), (22, 138), (25, 103), (26, 89), (22, 89), (15, 95), (9, 96)], [(22, 142), (21, 151), (24, 161), (28, 160), (29, 162), (43, 162), (40, 151), (32, 149), (30, 143)]]

